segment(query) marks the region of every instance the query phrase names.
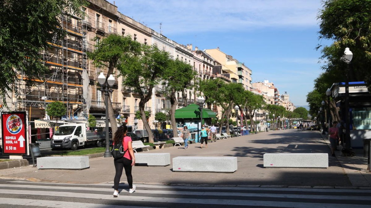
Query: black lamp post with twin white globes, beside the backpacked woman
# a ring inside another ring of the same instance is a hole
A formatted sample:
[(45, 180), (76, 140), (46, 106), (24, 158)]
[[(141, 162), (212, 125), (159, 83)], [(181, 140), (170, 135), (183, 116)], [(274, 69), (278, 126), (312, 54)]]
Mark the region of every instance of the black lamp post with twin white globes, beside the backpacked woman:
[(103, 72), (101, 72), (101, 74), (98, 76), (98, 82), (101, 85), (102, 93), (104, 92), (104, 103), (106, 108), (106, 151), (104, 152), (104, 157), (111, 157), (111, 152), (109, 151), (108, 96), (109, 93), (112, 93), (113, 91), (112, 87), (115, 84), (115, 77), (111, 74), (109, 75), (108, 79), (106, 79), (106, 76), (104, 76)]

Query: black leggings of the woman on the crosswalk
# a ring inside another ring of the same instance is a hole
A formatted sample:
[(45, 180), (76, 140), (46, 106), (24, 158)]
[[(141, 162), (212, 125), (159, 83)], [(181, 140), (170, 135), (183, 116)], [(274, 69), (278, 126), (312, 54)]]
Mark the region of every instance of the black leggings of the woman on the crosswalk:
[(126, 178), (128, 180), (129, 188), (133, 188), (133, 177), (131, 175), (131, 160), (122, 157), (120, 159), (114, 160), (116, 174), (114, 179), (114, 189), (118, 190), (118, 184), (120, 183), (120, 178), (122, 175), (122, 169), (125, 168)]

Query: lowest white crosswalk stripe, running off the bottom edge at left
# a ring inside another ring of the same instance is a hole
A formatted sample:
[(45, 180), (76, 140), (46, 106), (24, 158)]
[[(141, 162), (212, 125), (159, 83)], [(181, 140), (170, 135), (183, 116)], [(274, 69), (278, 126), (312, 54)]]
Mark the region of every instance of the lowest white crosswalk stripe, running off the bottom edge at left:
[(50, 200), (39, 200), (39, 199), (14, 199), (14, 198), (0, 198), (0, 204), (11, 204), (11, 205), (23, 205), (23, 206), (42, 206), (42, 207), (79, 207), (79, 208), (151, 208), (151, 207), (136, 207), (136, 206), (124, 206), (124, 205), (108, 205), (108, 204), (91, 204), (81, 202), (68, 202), (68, 201), (50, 201)]

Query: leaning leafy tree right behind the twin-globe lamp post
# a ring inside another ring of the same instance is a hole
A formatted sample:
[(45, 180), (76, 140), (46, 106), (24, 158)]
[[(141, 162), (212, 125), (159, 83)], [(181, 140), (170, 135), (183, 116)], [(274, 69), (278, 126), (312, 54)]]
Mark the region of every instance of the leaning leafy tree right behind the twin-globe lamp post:
[[(92, 53), (88, 52), (88, 57), (93, 60), (93, 64), (96, 67), (107, 69), (105, 81), (105, 85), (107, 85), (107, 79), (110, 74), (114, 74), (115, 70), (124, 70), (128, 57), (137, 56), (140, 53), (141, 44), (132, 40), (130, 36), (110, 34), (95, 45), (95, 50)], [(102, 96), (105, 96), (103, 94)], [(102, 100), (105, 101), (105, 99)], [(111, 122), (112, 135), (115, 135), (117, 122), (111, 99), (108, 99), (108, 104), (106, 105), (108, 106), (108, 118)]]

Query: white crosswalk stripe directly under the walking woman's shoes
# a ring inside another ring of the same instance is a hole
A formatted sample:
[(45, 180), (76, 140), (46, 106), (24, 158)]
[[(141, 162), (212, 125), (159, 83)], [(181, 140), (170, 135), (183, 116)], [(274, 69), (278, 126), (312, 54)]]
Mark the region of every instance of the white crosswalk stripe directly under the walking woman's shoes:
[[(1, 194), (17, 194), (19, 190), (0, 189)], [(305, 202), (283, 202), (283, 201), (255, 201), (255, 200), (240, 200), (240, 199), (194, 199), (194, 198), (167, 198), (167, 197), (144, 197), (133, 195), (121, 195), (118, 198), (113, 198), (107, 194), (89, 194), (76, 192), (53, 192), (53, 191), (28, 191), (27, 195), (43, 195), (43, 196), (58, 196), (58, 197), (75, 197), (75, 198), (94, 198), (94, 199), (110, 199), (117, 201), (145, 201), (145, 202), (162, 202), (162, 203), (184, 203), (184, 204), (215, 204), (215, 205), (254, 205), (254, 206), (270, 206), (270, 207), (328, 207), (328, 208), (366, 208), (370, 205), (349, 205), (349, 204), (329, 204), (329, 203), (305, 203)]]

